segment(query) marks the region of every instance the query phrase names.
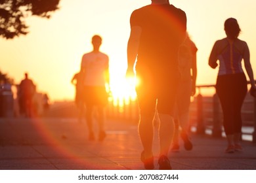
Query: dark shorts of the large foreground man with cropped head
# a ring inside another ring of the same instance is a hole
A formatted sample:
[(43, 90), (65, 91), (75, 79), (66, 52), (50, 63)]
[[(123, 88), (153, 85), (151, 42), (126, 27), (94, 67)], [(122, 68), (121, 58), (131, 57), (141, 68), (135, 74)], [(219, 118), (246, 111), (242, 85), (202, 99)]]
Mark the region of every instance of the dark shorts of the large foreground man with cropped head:
[(172, 73), (168, 77), (156, 77), (150, 75), (140, 75), (140, 84), (136, 88), (139, 101), (140, 114), (152, 114), (156, 108), (160, 114), (170, 114), (173, 116), (175, 110), (175, 100), (179, 86), (179, 72)]

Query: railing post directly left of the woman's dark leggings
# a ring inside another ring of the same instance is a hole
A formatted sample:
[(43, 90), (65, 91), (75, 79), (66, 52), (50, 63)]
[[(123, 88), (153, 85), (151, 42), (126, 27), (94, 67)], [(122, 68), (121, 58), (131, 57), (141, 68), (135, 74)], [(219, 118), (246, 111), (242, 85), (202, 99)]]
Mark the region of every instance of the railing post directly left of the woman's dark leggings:
[(219, 113), (219, 98), (213, 95), (213, 137), (222, 137), (222, 123)]

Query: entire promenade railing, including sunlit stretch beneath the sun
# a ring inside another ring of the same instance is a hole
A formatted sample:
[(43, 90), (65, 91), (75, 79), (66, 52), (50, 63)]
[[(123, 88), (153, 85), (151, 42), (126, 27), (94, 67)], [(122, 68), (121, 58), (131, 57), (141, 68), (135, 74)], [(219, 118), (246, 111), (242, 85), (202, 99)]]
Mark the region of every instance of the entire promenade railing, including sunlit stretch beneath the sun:
[[(196, 127), (196, 133), (203, 134), (207, 129), (211, 129), (213, 137), (222, 137), (223, 134), (223, 114), (219, 97), (216, 93), (212, 96), (203, 97), (201, 90), (204, 88), (215, 88), (215, 85), (200, 85), (198, 95), (194, 97), (190, 105), (190, 124)], [(139, 122), (139, 107), (136, 100), (130, 99), (128, 103), (120, 100), (114, 105), (110, 101), (107, 109), (108, 118), (125, 120), (128, 122)], [(253, 128), (253, 132), (246, 135), (252, 136), (252, 141), (256, 143), (256, 99), (247, 95), (242, 108), (243, 125)]]

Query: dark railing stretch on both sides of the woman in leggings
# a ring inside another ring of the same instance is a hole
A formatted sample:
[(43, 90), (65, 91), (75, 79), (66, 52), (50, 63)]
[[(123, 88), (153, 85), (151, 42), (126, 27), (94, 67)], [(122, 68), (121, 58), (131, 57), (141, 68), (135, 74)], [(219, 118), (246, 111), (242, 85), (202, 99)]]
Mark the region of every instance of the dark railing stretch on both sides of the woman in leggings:
[[(215, 88), (215, 85), (201, 85), (196, 87), (199, 91), (196, 99), (194, 100), (194, 103), (196, 103), (194, 106), (196, 105), (197, 111), (196, 133), (202, 134), (205, 133), (207, 128), (211, 128), (213, 137), (222, 137), (223, 113), (221, 110), (219, 97), (216, 93), (214, 93), (211, 97), (207, 97), (207, 101), (203, 101), (203, 95), (200, 92), (202, 88)], [(206, 103), (208, 103), (207, 107), (205, 107)], [(211, 105), (211, 107), (209, 107), (209, 105)], [(209, 113), (211, 113), (210, 119)], [(245, 133), (242, 131), (242, 135), (251, 135), (252, 141), (256, 143), (256, 99), (251, 97), (249, 93), (247, 93), (244, 104), (242, 106), (242, 120), (243, 126), (249, 126), (253, 128), (252, 133)]]

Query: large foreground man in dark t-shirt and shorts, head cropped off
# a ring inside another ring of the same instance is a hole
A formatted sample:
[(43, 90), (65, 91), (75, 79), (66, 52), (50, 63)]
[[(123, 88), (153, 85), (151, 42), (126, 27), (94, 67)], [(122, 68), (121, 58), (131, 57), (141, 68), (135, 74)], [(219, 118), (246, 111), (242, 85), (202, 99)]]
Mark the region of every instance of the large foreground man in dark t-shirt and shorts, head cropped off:
[(167, 0), (152, 0), (151, 5), (131, 14), (131, 34), (127, 45), (127, 78), (136, 76), (140, 107), (139, 135), (145, 169), (154, 169), (152, 141), (155, 108), (160, 118), (160, 169), (171, 169), (168, 154), (173, 140), (175, 97), (179, 84), (178, 50), (186, 37), (186, 14)]

